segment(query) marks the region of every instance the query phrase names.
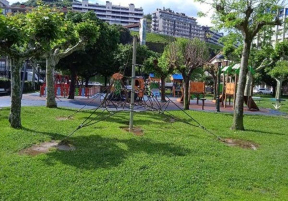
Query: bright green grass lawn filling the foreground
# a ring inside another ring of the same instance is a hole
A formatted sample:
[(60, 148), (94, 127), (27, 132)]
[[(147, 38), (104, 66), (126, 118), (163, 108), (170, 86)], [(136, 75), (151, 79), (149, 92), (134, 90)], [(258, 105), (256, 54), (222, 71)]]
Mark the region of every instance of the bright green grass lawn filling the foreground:
[(247, 131), (234, 132), (230, 114), (189, 111), (223, 138), (259, 144), (256, 151), (151, 113), (135, 114), (144, 136), (134, 136), (120, 128), (128, 113), (118, 113), (75, 133), (75, 151), (18, 154), (32, 144), (62, 140), (89, 115), (56, 120), (72, 113), (24, 107), (23, 129), (14, 130), (9, 110), (0, 109), (0, 200), (287, 200), (287, 117), (245, 115)]

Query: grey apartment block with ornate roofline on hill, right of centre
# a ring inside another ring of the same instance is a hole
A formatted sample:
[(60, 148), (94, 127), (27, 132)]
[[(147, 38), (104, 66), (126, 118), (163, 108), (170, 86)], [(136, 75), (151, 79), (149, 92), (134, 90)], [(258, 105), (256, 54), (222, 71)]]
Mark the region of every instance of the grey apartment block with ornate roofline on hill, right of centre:
[(184, 13), (175, 13), (170, 9), (157, 9), (152, 13), (151, 32), (181, 38), (200, 38), (204, 40), (204, 31), (196, 18)]

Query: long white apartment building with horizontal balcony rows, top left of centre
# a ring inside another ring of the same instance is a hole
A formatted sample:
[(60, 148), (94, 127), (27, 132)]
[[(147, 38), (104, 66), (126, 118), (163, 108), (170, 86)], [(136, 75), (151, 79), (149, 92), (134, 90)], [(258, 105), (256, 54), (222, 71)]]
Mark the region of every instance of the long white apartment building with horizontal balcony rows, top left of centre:
[(106, 5), (98, 3), (89, 3), (86, 0), (76, 1), (73, 0), (72, 9), (74, 11), (87, 12), (94, 11), (97, 17), (109, 24), (121, 24), (123, 26), (129, 24), (139, 23), (143, 18), (143, 9), (135, 8), (135, 5), (130, 3), (129, 7), (112, 5), (111, 2), (106, 1)]

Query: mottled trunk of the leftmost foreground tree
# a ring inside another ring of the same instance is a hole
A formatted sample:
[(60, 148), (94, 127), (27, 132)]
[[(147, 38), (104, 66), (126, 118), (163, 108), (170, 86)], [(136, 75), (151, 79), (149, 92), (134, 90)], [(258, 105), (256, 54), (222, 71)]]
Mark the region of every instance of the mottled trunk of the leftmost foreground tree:
[(11, 109), (9, 122), (11, 127), (21, 127), (21, 71), (22, 63), (12, 59), (11, 66)]

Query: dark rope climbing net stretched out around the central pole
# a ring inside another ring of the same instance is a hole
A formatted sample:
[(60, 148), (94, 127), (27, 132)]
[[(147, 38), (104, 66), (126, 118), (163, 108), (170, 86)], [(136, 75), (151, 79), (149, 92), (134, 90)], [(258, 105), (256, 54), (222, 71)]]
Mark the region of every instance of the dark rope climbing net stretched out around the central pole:
[[(75, 113), (73, 113), (68, 117), (71, 118), (73, 115), (81, 112), (85, 107), (87, 107), (90, 103), (92, 103), (96, 99), (100, 100), (100, 104), (98, 105), (98, 107), (91, 109), (92, 112), (90, 113), (90, 115), (62, 141), (70, 138), (73, 134), (75, 134), (75, 132), (77, 132), (81, 128), (97, 124), (101, 121), (104, 121), (105, 119), (112, 117), (113, 115), (119, 112), (131, 111), (132, 108), (130, 102), (130, 94), (132, 92), (136, 94), (135, 102), (132, 105), (134, 112), (149, 111), (152, 113), (157, 113), (167, 118), (174, 119), (175, 121), (179, 121), (187, 125), (200, 128), (205, 132), (207, 132), (208, 134), (215, 136), (217, 139), (222, 140), (219, 136), (209, 131), (208, 129), (206, 129), (206, 127), (204, 127), (198, 121), (196, 121), (196, 119), (194, 119), (190, 114), (188, 114), (185, 110), (179, 107), (179, 105), (173, 102), (167, 95), (165, 95), (167, 101), (160, 102), (158, 98), (149, 89), (147, 81), (146, 82), (143, 81), (140, 86), (134, 86), (134, 87), (131, 86), (131, 88), (129, 88), (127, 85), (124, 84), (123, 78), (130, 79), (131, 77), (125, 77), (120, 73), (116, 73), (112, 77), (113, 81), (110, 84), (110, 86), (105, 88), (102, 92), (96, 94), (92, 98), (92, 100), (90, 100), (90, 102), (88, 102), (86, 105), (84, 105), (82, 108), (75, 111)], [(177, 117), (176, 115), (168, 111), (169, 105), (173, 105), (179, 111), (184, 113), (186, 117), (188, 117), (188, 120), (183, 119), (181, 117)], [(105, 111), (108, 112), (108, 115), (104, 115)]]

